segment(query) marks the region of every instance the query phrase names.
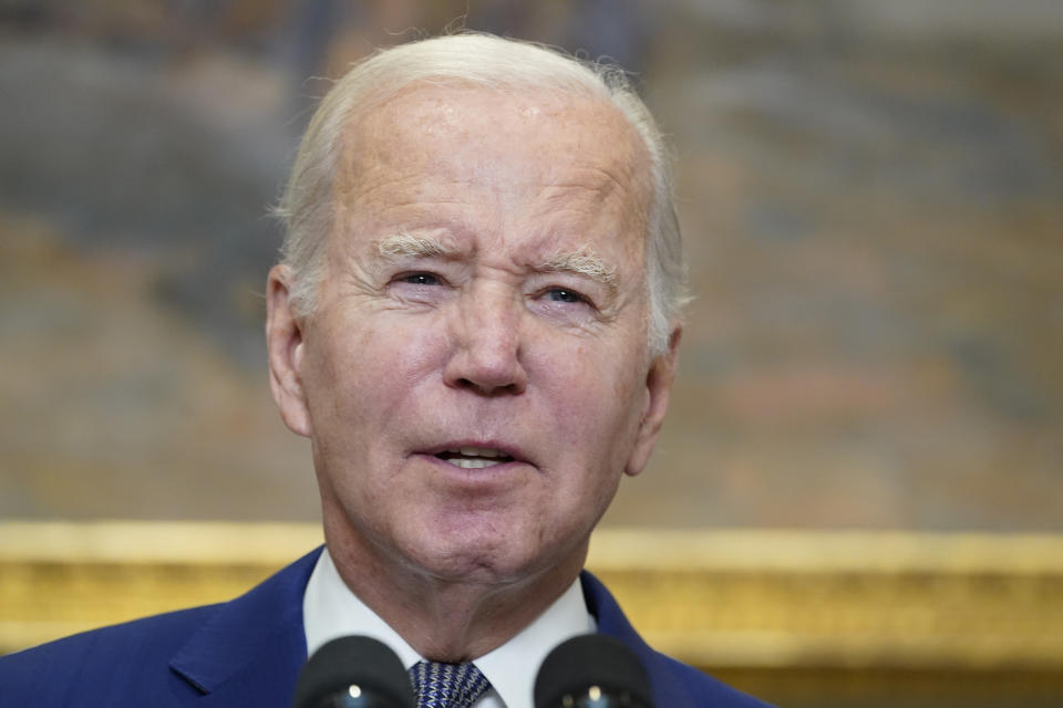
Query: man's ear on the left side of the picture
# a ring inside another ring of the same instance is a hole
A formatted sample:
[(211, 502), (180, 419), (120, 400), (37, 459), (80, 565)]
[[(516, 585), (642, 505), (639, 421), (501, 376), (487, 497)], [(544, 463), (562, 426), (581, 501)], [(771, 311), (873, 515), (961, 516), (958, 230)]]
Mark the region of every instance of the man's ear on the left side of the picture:
[(266, 283), (266, 345), (269, 388), (292, 433), (310, 437), (310, 412), (302, 387), (303, 321), (291, 308), (291, 269), (274, 266)]

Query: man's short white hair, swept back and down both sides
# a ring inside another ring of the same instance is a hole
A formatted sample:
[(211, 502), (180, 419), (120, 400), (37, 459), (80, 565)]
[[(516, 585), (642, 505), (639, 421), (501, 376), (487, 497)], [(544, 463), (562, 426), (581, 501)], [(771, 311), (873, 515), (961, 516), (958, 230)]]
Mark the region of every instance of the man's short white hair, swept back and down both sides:
[(664, 353), (687, 295), (671, 160), (657, 123), (619, 67), (582, 62), (537, 44), (481, 33), (438, 37), (381, 50), (355, 64), (321, 102), (275, 210), (285, 225), (281, 262), (292, 270), (290, 296), (296, 312), (312, 313), (324, 275), (326, 237), (333, 227), (337, 157), (344, 128), (403, 88), (423, 82), (455, 82), (497, 91), (565, 91), (601, 97), (617, 106), (649, 155), (648, 336), (651, 352)]

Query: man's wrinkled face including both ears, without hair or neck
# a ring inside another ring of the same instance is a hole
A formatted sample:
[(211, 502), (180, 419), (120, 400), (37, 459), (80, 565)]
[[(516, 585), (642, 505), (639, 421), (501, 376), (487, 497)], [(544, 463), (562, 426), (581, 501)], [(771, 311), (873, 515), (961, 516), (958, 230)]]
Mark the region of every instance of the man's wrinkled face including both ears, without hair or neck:
[(639, 472), (673, 357), (647, 344), (647, 169), (610, 105), (419, 87), (349, 127), (313, 315), (270, 282), (275, 395), (327, 532), (444, 580), (585, 550)]

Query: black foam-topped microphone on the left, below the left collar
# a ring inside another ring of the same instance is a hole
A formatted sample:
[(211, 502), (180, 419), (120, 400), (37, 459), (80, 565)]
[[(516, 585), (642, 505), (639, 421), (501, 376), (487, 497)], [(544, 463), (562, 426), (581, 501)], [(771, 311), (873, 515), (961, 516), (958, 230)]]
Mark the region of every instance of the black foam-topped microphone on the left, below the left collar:
[(388, 646), (362, 636), (332, 639), (296, 681), (295, 708), (414, 708), (413, 685)]

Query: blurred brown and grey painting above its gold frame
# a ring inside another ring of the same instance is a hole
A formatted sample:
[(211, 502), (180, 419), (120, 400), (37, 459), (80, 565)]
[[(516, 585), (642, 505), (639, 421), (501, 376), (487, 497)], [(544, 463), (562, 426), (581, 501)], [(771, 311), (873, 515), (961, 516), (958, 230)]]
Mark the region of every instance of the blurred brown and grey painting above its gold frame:
[(0, 520), (317, 519), (267, 212), (330, 77), (462, 28), (619, 62), (679, 158), (696, 300), (607, 527), (1063, 531), (1054, 0), (2, 0)]

